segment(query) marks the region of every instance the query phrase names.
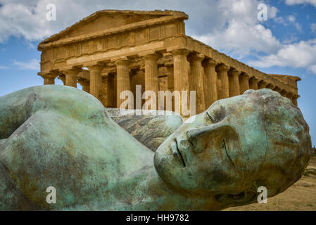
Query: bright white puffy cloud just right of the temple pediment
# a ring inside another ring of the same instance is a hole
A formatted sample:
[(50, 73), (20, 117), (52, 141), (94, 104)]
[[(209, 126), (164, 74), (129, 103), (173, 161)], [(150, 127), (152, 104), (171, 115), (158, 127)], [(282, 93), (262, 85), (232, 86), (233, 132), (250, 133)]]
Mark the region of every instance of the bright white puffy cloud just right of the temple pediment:
[[(255, 51), (275, 53), (282, 45), (257, 19), (260, 1), (221, 1), (227, 15), (225, 26), (202, 35), (195, 35), (215, 49), (230, 51), (235, 56), (246, 56)], [(269, 18), (275, 18), (277, 8), (268, 7)]]

